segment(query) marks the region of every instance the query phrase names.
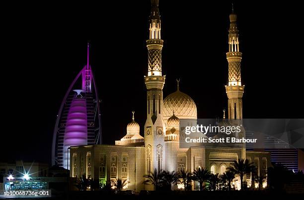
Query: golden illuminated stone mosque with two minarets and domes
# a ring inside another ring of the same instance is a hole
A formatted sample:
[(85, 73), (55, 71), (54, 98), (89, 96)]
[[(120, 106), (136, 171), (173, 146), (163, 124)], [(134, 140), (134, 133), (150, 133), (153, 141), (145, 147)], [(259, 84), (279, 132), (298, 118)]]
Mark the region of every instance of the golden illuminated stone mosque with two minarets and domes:
[[(231, 162), (238, 158), (246, 158), (258, 168), (259, 175), (266, 175), (270, 166), (270, 154), (267, 152), (246, 151), (242, 145), (226, 147), (179, 145), (180, 120), (187, 120), (191, 125), (197, 123), (197, 107), (193, 99), (177, 87), (177, 90), (163, 98), (165, 75), (162, 74), (161, 22), (158, 0), (151, 0), (150, 34), (147, 40), (148, 73), (144, 77), (147, 87), (147, 120), (144, 125), (144, 136), (140, 134), (140, 125), (133, 112), (132, 121), (127, 126), (127, 133), (115, 145), (88, 144), (71, 146), (71, 177), (81, 177), (110, 183), (111, 180), (127, 180), (126, 190), (153, 190), (153, 186), (144, 185), (144, 175), (154, 169), (161, 171), (189, 171), (206, 168), (212, 173), (223, 174)], [(236, 14), (229, 15), (228, 34), (228, 119), (242, 119), (242, 96), (244, 85), (241, 83), (241, 58), (239, 50)], [(143, 126), (143, 125), (141, 125)], [(215, 135), (215, 138), (220, 135)], [(67, 151), (68, 152), (68, 151)], [(252, 176), (246, 176), (249, 187)], [(240, 188), (239, 181), (234, 182)], [(174, 189), (183, 189), (175, 186)], [(192, 183), (192, 190), (199, 190), (199, 184)]]

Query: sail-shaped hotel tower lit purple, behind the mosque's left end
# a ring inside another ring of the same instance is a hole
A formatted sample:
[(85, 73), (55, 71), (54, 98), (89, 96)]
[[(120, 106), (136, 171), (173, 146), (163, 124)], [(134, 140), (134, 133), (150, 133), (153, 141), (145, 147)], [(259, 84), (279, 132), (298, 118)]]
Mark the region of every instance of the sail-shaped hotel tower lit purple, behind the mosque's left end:
[(70, 146), (101, 144), (101, 119), (97, 87), (89, 65), (77, 74), (61, 103), (52, 144), (52, 165), (70, 169)]

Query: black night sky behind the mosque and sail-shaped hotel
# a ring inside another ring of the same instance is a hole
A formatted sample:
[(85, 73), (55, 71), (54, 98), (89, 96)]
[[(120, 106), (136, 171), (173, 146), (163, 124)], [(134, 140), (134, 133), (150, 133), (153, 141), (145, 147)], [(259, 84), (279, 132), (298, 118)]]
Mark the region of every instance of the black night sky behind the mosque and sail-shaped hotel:
[[(126, 133), (132, 110), (146, 121), (150, 0), (1, 6), (0, 161), (51, 161), (61, 101), (90, 64), (101, 103), (103, 143)], [(164, 96), (193, 98), (198, 118), (227, 107), (229, 1), (160, 0)], [(234, 1), (238, 16), (243, 118), (304, 118), (303, 10), (297, 2)]]

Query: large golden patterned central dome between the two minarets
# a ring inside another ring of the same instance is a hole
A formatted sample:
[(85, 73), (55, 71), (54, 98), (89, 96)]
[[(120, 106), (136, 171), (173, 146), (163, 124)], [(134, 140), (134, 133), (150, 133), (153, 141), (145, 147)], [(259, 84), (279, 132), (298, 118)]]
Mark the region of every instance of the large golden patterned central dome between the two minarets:
[(193, 99), (179, 89), (163, 100), (162, 110), (165, 121), (172, 116), (173, 110), (179, 119), (197, 119), (197, 110)]

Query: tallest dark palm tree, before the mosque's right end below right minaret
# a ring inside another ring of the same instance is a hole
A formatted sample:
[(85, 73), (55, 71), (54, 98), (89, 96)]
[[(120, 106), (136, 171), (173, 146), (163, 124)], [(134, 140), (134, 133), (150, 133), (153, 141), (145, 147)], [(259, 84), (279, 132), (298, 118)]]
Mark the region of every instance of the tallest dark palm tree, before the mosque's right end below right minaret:
[(241, 190), (243, 190), (243, 176), (250, 172), (254, 172), (255, 167), (252, 164), (253, 163), (249, 163), (247, 159), (238, 159), (237, 161), (234, 160), (228, 168), (235, 175), (239, 176), (241, 182)]

